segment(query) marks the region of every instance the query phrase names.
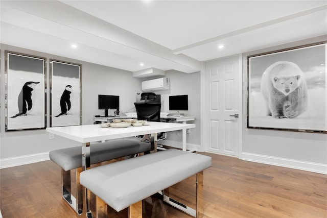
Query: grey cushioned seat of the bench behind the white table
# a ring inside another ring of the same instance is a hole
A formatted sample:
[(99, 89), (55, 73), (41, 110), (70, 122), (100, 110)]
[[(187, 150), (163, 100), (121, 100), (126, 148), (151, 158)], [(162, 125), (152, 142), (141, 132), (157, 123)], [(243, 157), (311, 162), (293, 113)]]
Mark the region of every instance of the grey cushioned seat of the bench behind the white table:
[[(90, 145), (90, 163), (100, 163), (115, 158), (150, 151), (150, 143), (135, 140), (114, 140)], [(65, 171), (82, 166), (82, 147), (59, 149), (49, 153), (50, 159)]]

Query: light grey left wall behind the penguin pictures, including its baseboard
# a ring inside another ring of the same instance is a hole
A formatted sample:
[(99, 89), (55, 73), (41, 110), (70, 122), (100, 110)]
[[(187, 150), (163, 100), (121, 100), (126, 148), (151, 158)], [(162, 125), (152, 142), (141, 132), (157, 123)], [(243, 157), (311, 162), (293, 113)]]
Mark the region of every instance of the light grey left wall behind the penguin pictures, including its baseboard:
[[(103, 113), (98, 110), (98, 94), (116, 94), (121, 96), (121, 111), (132, 107), (135, 101), (135, 93), (141, 90), (141, 82), (132, 77), (132, 73), (125, 70), (105, 67), (101, 65), (67, 59), (50, 54), (21, 49), (15, 46), (1, 45), (1, 105), (4, 105), (5, 80), (4, 67), (5, 50), (23, 54), (35, 55), (48, 58), (46, 66), (47, 83), (49, 84), (49, 59), (57, 59), (81, 64), (82, 68), (82, 125), (93, 124), (93, 116)], [(49, 93), (49, 92), (48, 92)], [(49, 94), (47, 94), (49, 100)], [(47, 105), (49, 113), (49, 104)], [(49, 118), (47, 120), (49, 126)], [(78, 146), (79, 143), (55, 136), (49, 139), (49, 134), (42, 130), (5, 131), (5, 108), (1, 107), (1, 167), (15, 165), (16, 163), (28, 163), (35, 160), (49, 159), (49, 151), (67, 146)]]

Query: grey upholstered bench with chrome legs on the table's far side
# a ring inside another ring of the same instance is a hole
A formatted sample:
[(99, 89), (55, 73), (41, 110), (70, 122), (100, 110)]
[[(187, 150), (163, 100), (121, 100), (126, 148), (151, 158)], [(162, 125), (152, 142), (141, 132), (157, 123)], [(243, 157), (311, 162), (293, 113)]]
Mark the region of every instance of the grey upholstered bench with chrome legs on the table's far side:
[[(150, 151), (150, 143), (121, 139), (103, 143), (91, 144), (90, 164), (136, 155)], [(50, 159), (61, 166), (62, 197), (74, 210), (83, 212), (82, 187), (79, 184), (79, 175), (82, 172), (82, 147), (72, 147), (51, 151)], [(75, 183), (71, 182), (71, 170), (76, 169)]]

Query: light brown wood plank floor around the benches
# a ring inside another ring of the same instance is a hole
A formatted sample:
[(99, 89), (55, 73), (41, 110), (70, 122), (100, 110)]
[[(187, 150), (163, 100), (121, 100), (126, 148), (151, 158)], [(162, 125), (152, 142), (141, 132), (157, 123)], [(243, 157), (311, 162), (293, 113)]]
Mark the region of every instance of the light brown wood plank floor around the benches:
[[(327, 217), (327, 175), (203, 154), (213, 158), (204, 172), (205, 218)], [(194, 179), (173, 187), (176, 200), (195, 204)], [(61, 198), (60, 167), (52, 161), (1, 169), (0, 191), (4, 218), (81, 217)], [(144, 201), (143, 216), (190, 217), (156, 197)]]

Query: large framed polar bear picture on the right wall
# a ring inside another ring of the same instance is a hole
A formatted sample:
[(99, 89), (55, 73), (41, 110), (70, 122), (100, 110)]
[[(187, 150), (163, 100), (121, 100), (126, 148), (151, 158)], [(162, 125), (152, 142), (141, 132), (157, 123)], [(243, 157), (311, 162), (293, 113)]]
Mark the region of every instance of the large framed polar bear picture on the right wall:
[(248, 128), (327, 133), (326, 47), (247, 57)]

